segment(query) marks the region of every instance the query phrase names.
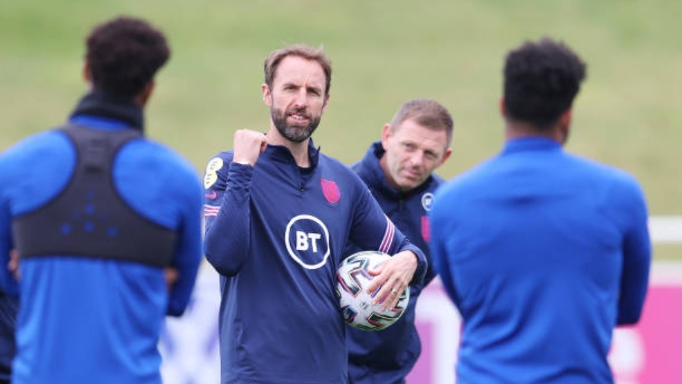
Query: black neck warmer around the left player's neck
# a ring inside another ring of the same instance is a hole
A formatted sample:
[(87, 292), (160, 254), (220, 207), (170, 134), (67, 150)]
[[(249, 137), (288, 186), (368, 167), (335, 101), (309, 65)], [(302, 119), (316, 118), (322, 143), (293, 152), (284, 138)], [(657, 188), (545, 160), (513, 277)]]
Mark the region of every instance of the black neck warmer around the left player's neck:
[(143, 130), (145, 124), (142, 108), (132, 99), (101, 90), (85, 94), (71, 113), (70, 120), (83, 116), (118, 121), (136, 130)]

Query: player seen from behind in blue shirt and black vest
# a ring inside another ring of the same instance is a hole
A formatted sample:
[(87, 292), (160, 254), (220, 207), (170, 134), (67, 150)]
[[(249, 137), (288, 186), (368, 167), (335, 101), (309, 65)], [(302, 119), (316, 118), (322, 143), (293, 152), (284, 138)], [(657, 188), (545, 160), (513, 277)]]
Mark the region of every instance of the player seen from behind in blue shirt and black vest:
[(118, 17), (86, 48), (90, 90), (68, 122), (0, 154), (0, 265), (19, 258), (0, 268), (3, 294), (19, 297), (12, 383), (161, 384), (158, 338), (196, 280), (203, 192), (192, 165), (144, 135), (164, 35)]

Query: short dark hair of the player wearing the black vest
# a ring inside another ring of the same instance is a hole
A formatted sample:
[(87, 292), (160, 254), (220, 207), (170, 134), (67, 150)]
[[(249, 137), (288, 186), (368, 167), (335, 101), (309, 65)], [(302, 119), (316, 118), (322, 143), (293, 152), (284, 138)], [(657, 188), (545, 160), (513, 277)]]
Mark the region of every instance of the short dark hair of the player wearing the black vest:
[(95, 26), (86, 46), (94, 87), (125, 97), (141, 92), (170, 57), (163, 34), (134, 17), (116, 17)]

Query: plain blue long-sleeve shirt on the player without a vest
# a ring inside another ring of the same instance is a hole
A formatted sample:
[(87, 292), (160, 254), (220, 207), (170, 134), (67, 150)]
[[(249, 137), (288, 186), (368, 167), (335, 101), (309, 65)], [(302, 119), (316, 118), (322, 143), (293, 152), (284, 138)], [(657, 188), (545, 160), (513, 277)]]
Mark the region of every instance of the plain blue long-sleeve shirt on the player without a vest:
[(457, 383), (612, 383), (612, 330), (647, 291), (647, 217), (632, 176), (539, 137), (438, 190), (431, 255), (464, 323)]

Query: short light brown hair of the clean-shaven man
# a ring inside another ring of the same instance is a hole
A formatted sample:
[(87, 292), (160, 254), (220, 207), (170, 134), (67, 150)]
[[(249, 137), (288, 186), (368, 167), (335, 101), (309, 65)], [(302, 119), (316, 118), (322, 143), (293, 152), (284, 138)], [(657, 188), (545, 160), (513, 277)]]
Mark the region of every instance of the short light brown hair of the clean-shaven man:
[(396, 130), (403, 121), (415, 119), (417, 124), (431, 130), (444, 130), (450, 146), (453, 138), (453, 117), (441, 103), (431, 99), (411, 99), (403, 103), (391, 120), (391, 130)]

